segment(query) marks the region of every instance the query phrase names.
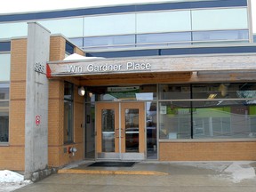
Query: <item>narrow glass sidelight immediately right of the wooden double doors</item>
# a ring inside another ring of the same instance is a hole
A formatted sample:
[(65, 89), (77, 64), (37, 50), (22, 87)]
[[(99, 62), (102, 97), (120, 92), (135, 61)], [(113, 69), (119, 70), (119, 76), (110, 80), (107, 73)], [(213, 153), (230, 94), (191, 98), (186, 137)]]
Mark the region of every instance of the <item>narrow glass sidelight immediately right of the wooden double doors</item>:
[(156, 102), (147, 102), (147, 157), (157, 159)]

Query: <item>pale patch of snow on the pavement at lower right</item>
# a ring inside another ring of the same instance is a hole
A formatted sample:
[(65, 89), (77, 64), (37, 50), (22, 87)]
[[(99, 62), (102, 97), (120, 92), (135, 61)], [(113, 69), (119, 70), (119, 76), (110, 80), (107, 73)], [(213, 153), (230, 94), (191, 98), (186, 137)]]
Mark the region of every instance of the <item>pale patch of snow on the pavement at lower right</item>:
[(255, 178), (254, 168), (251, 167), (250, 164), (243, 162), (235, 162), (230, 164), (228, 168), (224, 170), (224, 172), (231, 173), (231, 177), (234, 182)]

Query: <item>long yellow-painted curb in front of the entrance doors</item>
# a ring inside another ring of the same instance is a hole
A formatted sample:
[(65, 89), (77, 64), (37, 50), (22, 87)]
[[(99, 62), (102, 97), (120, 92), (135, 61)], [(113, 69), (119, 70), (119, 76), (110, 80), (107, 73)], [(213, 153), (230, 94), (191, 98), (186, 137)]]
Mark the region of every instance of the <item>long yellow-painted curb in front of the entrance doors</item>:
[(77, 170), (77, 169), (62, 169), (58, 173), (68, 174), (104, 174), (104, 175), (168, 175), (167, 172), (155, 171), (108, 171), (108, 170)]

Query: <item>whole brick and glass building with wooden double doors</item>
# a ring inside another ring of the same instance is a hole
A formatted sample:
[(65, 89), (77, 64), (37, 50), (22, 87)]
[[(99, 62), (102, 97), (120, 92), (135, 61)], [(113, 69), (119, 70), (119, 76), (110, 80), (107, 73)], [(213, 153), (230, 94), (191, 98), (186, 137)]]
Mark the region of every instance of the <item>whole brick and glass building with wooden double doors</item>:
[(256, 159), (249, 0), (6, 14), (0, 30), (0, 169)]

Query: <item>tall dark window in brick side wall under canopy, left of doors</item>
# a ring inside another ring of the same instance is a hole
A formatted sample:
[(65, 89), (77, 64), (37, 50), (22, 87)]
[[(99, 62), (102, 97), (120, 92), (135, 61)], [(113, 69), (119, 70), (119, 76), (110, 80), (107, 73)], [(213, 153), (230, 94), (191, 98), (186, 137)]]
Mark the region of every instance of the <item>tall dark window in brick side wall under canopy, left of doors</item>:
[(72, 143), (74, 130), (74, 85), (64, 83), (64, 143)]

